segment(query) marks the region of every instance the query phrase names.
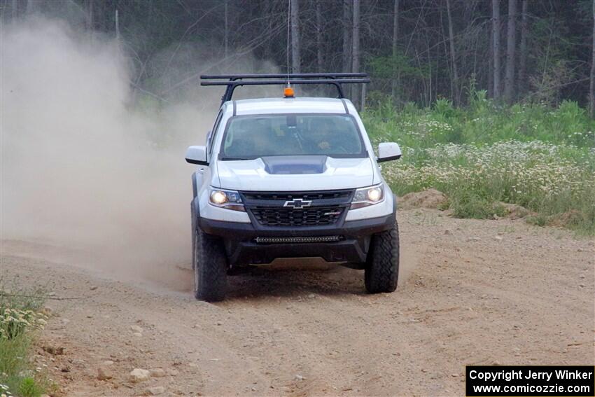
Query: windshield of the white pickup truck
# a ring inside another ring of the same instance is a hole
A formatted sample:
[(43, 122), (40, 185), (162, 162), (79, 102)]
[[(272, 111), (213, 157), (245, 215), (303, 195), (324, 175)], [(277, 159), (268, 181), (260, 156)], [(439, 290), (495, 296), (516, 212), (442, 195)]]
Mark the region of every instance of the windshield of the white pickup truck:
[(366, 152), (355, 120), (349, 115), (259, 115), (230, 119), (221, 160), (274, 155), (363, 158)]

